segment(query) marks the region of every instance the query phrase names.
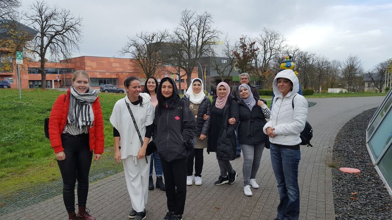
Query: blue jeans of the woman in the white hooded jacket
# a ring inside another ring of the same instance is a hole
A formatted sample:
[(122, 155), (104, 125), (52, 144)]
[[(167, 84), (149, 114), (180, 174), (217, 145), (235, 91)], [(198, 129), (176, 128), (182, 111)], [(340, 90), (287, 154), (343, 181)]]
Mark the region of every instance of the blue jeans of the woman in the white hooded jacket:
[(280, 197), (277, 219), (298, 220), (300, 204), (298, 164), (301, 160), (301, 151), (276, 147), (273, 143), (270, 144), (269, 150)]

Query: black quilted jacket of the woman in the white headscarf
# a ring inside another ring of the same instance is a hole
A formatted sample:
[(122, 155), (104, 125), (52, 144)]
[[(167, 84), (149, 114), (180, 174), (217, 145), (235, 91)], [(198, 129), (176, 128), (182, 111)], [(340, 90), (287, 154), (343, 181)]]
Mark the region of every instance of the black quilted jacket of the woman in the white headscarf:
[[(188, 106), (190, 105), (190, 100), (189, 97), (184, 95), (183, 99), (187, 101)], [(196, 117), (196, 135), (208, 134), (209, 126), (210, 126), (210, 118), (208, 117), (207, 120), (203, 119), (203, 115), (210, 115), (211, 114), (211, 102), (209, 101), (209, 98), (207, 96), (204, 97), (204, 99), (200, 102), (198, 106), (198, 111), (197, 111), (197, 117)]]

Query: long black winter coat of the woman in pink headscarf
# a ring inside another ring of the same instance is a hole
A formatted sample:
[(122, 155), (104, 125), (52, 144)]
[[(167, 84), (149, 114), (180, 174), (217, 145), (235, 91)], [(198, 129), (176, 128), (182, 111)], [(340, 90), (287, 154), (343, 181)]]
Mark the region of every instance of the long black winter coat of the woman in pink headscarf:
[[(212, 107), (211, 107), (211, 115), (210, 118), (214, 117), (212, 114), (212, 110), (215, 107), (215, 102), (216, 99), (212, 101)], [(236, 122), (234, 125), (229, 124), (229, 118), (235, 118)], [(212, 129), (217, 129), (217, 127), (220, 127), (219, 135), (218, 136), (211, 136), (208, 135), (208, 141), (207, 141), (207, 152), (216, 152), (216, 158), (221, 159), (221, 160), (234, 160), (236, 159), (236, 134), (235, 130), (238, 125), (238, 102), (235, 100), (235, 98), (230, 94), (229, 97), (227, 98), (226, 104), (223, 107), (223, 119), (222, 119), (222, 125), (213, 125), (211, 124), (209, 132)], [(218, 138), (218, 145), (215, 146), (213, 141), (211, 141), (212, 138)]]

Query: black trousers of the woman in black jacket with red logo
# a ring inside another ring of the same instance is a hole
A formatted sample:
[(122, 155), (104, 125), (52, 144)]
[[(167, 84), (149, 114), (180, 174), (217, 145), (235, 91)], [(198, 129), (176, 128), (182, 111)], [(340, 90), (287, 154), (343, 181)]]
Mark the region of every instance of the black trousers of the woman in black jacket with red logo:
[(187, 158), (171, 162), (161, 158), (165, 177), (167, 208), (175, 215), (184, 214), (187, 197)]

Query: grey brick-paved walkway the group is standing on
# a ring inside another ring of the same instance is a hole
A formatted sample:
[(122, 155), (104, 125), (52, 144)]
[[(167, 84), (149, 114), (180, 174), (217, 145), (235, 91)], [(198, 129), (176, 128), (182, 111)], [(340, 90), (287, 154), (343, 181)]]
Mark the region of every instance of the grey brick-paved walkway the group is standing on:
[[(299, 165), (301, 214), (304, 220), (334, 220), (331, 169), (326, 166), (332, 155), (335, 136), (341, 127), (361, 112), (378, 107), (384, 97), (317, 98), (309, 109), (308, 121), (314, 129), (313, 148), (302, 146)], [(257, 176), (259, 189), (253, 196), (243, 192), (242, 163), (232, 162), (239, 178), (233, 185), (215, 186), (219, 176), (215, 154), (204, 153), (203, 184), (188, 186), (184, 220), (273, 220), (279, 202), (276, 180), (271, 168), (269, 150), (264, 149)], [(60, 189), (59, 189), (60, 190)], [(166, 196), (163, 191), (152, 190), (148, 195), (147, 219), (159, 220), (166, 214)], [(127, 220), (131, 209), (124, 174), (120, 173), (90, 185), (88, 207), (98, 220)], [(36, 205), (5, 214), (5, 220), (66, 219), (62, 196), (56, 196)]]

